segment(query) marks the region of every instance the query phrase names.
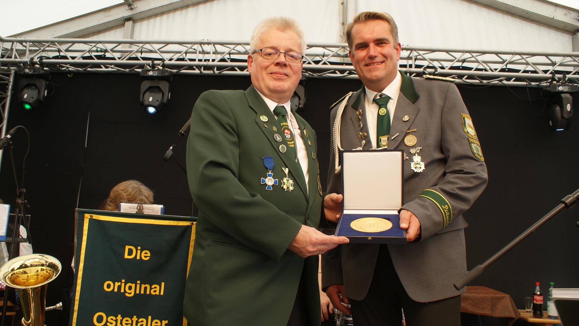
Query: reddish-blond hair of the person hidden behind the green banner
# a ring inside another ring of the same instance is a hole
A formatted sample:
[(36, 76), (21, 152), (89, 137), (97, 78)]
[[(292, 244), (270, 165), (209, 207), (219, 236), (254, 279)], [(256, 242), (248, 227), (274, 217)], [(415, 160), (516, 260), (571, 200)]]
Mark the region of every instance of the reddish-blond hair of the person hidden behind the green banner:
[(152, 204), (153, 191), (140, 181), (123, 181), (113, 187), (111, 194), (102, 203), (100, 209), (101, 211), (118, 211), (121, 202)]

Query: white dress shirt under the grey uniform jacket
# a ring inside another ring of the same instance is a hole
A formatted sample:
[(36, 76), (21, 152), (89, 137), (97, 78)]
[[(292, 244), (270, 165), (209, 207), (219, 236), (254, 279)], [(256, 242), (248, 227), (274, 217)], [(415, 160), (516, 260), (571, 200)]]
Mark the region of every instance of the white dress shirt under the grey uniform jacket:
[[(400, 94), (400, 86), (402, 85), (402, 76), (400, 75), (400, 71), (394, 77), (394, 80), (390, 83), (390, 85), (386, 86), (382, 90), (382, 93), (390, 96), (390, 101), (388, 102), (388, 112), (390, 113), (390, 125), (394, 121), (394, 110), (396, 109), (396, 103), (398, 102), (398, 95)], [(376, 96), (376, 92), (373, 90), (369, 90), (367, 87), (366, 89), (366, 112), (364, 115), (366, 116), (366, 123), (368, 124), (368, 134), (370, 136), (370, 140), (372, 140), (372, 148), (376, 148), (376, 124), (378, 123), (378, 104), (374, 102), (374, 96)], [(390, 137), (389, 139), (390, 140)], [(368, 148), (368, 147), (365, 147)]]

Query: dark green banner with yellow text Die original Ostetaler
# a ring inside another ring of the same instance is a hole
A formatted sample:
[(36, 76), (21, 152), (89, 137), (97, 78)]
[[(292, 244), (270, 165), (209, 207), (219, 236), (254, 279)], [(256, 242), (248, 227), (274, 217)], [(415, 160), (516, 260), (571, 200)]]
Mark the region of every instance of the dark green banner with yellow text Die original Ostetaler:
[(186, 326), (195, 219), (77, 210), (71, 326)]

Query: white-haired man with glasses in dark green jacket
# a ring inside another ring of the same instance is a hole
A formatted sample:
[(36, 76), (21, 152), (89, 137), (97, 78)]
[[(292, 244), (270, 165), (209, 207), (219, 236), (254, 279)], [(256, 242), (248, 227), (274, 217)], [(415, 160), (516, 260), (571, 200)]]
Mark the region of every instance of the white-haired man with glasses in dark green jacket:
[(193, 326), (319, 325), (317, 255), (346, 243), (323, 197), (316, 133), (290, 110), (305, 50), (298, 24), (266, 19), (251, 38), (247, 90), (203, 93), (191, 115), (189, 188), (199, 207), (184, 315)]

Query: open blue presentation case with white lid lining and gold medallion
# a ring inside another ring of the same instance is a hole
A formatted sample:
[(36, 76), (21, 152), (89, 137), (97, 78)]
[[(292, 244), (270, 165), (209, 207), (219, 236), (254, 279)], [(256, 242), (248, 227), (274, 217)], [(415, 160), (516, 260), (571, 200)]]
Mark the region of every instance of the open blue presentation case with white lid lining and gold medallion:
[(398, 211), (403, 202), (403, 150), (345, 150), (342, 217), (335, 235), (356, 243), (406, 244)]

